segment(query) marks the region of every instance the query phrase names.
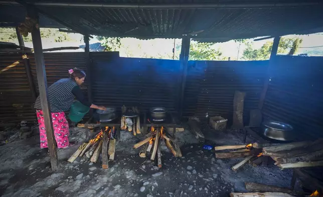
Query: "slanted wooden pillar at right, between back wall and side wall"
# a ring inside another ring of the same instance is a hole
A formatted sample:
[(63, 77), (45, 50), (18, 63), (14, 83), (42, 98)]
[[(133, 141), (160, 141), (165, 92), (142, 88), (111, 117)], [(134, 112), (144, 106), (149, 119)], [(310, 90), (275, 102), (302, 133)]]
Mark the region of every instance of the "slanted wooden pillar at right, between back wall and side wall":
[(275, 37), (274, 38), (274, 43), (272, 44), (272, 49), (271, 49), (270, 58), (269, 58), (269, 65), (268, 65), (266, 77), (265, 77), (265, 80), (264, 80), (264, 85), (263, 85), (263, 88), (262, 88), (262, 92), (260, 94), (259, 104), (258, 104), (258, 109), (259, 110), (262, 109), (263, 104), (265, 102), (265, 97), (266, 97), (266, 93), (267, 93), (267, 90), (268, 90), (269, 79), (270, 79), (270, 66), (273, 64), (273, 61), (276, 58), (276, 54), (277, 54), (277, 51), (278, 51), (279, 40), (280, 40), (280, 37)]

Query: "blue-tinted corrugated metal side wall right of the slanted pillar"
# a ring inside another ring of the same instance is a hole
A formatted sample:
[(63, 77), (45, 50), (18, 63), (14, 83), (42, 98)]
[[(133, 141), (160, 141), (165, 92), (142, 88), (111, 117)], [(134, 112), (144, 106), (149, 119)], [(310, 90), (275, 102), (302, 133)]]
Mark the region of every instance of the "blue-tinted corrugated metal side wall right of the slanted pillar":
[(278, 56), (270, 67), (264, 118), (294, 127), (300, 139), (323, 137), (323, 57)]

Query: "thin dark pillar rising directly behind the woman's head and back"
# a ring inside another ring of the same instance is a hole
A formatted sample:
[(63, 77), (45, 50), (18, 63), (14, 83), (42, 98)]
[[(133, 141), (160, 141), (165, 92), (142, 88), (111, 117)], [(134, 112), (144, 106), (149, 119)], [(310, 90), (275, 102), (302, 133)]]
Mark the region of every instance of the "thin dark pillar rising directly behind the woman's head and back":
[[(84, 55), (85, 55), (85, 64), (86, 64), (86, 80), (87, 80), (87, 96), (89, 101), (92, 103), (92, 69), (91, 69), (91, 60), (90, 60), (90, 43), (89, 43), (89, 35), (84, 35)], [(90, 116), (93, 114), (93, 109), (90, 109)]]

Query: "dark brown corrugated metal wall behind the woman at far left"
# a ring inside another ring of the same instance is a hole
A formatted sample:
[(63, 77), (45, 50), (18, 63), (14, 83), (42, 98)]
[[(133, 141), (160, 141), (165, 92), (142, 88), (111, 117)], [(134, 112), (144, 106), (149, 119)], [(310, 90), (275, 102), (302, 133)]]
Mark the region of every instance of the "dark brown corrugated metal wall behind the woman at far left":
[[(38, 83), (34, 54), (28, 54), (34, 75), (37, 93)], [(60, 78), (69, 77), (68, 70), (74, 67), (86, 71), (83, 52), (77, 53), (44, 53), (48, 85)], [(0, 74), (0, 123), (19, 122), (22, 120), (36, 121), (34, 100), (31, 95), (22, 54), (0, 54), (0, 69), (15, 61), (17, 66)], [(86, 92), (86, 82), (82, 89)]]

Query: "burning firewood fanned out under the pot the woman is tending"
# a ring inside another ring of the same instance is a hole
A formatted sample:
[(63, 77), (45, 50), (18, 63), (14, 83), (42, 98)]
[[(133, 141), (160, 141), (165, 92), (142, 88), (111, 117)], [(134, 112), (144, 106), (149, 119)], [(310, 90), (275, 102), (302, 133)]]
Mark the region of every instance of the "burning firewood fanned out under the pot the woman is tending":
[(108, 159), (114, 160), (115, 142), (116, 129), (105, 127), (104, 131), (101, 129), (98, 134), (83, 143), (68, 161), (72, 163), (77, 157), (82, 157), (84, 160), (96, 163), (102, 153), (102, 168), (107, 169)]

